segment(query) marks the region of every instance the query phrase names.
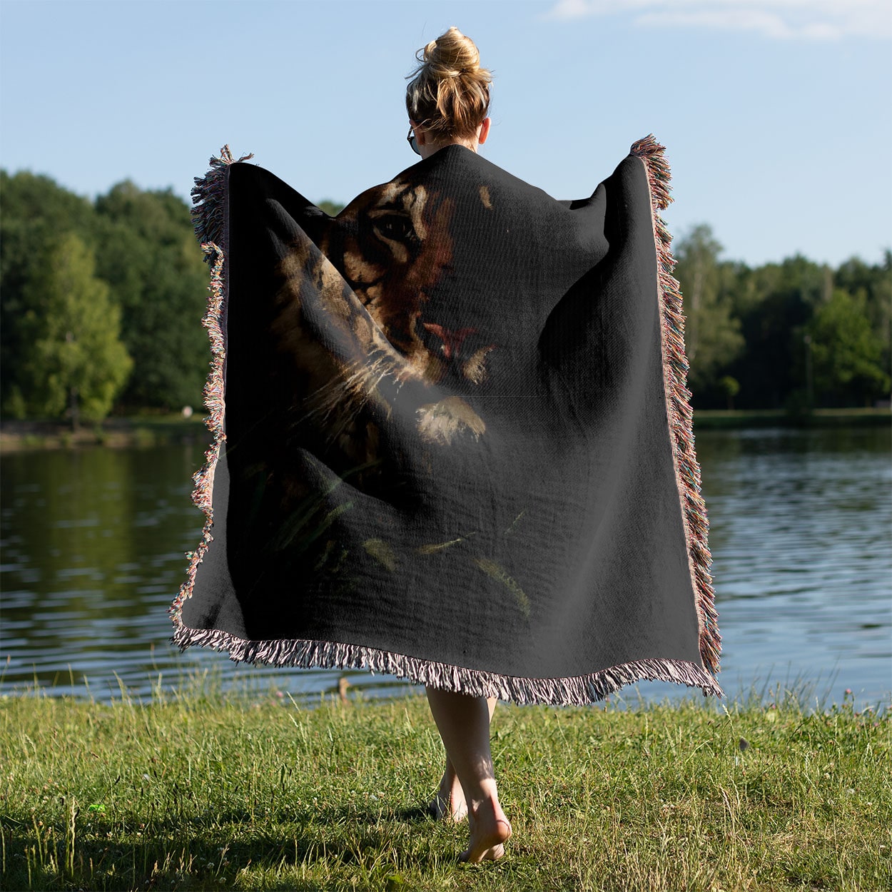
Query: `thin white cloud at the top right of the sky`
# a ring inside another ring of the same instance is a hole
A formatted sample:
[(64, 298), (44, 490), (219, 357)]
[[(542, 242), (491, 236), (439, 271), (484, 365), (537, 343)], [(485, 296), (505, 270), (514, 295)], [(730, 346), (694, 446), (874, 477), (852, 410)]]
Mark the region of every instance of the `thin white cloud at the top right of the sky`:
[(558, 0), (549, 18), (631, 16), (650, 28), (751, 31), (780, 40), (892, 37), (889, 0)]

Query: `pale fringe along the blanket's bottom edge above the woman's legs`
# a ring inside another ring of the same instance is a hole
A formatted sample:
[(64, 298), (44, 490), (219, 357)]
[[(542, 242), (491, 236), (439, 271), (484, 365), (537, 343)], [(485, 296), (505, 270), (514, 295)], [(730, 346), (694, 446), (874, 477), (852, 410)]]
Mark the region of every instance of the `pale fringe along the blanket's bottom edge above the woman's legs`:
[(387, 650), (336, 641), (249, 641), (219, 629), (189, 629), (178, 624), (174, 643), (225, 650), (236, 663), (265, 663), (309, 669), (367, 669), (416, 684), (473, 697), (497, 697), (521, 705), (586, 706), (635, 681), (673, 681), (722, 697), (722, 689), (700, 666), (684, 660), (635, 660), (572, 678), (524, 678), (407, 657)]

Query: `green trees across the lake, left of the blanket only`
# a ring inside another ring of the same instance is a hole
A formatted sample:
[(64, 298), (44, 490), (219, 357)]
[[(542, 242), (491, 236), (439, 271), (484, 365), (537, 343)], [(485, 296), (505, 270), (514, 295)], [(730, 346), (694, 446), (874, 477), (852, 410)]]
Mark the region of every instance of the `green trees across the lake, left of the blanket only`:
[(88, 201), (0, 171), (0, 411), (97, 421), (201, 404), (208, 273), (171, 191)]

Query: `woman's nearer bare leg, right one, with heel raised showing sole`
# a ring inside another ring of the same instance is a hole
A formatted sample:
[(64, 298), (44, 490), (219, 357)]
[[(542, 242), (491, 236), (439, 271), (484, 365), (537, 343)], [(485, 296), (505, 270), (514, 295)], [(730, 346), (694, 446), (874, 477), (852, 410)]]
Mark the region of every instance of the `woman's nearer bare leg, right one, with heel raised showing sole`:
[(427, 689), (427, 702), (458, 775), (471, 838), (460, 860), (495, 861), (505, 854), (511, 825), (499, 804), (490, 752), (490, 707), (484, 697)]

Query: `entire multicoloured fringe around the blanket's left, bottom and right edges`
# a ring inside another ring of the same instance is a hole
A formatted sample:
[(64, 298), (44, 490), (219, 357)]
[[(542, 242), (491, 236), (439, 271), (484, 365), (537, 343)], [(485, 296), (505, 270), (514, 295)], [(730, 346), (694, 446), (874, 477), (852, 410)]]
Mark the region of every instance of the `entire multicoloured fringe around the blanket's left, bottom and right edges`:
[[(668, 191), (665, 185), (668, 182), (668, 167), (662, 161), (662, 146), (658, 146), (652, 136), (635, 145), (641, 148), (637, 154), (645, 159), (648, 166), (651, 194), (654, 196), (663, 194), (665, 197), (662, 200), (668, 203)], [(636, 153), (635, 146), (632, 147), (632, 153)], [(238, 160), (246, 161), (251, 157), (252, 155), (246, 155)], [(624, 685), (635, 681), (671, 681), (700, 688), (704, 695), (713, 694), (722, 697), (722, 689), (709, 673), (701, 666), (684, 660), (635, 660), (573, 678), (524, 678), (467, 669), (464, 666), (436, 663), (378, 648), (344, 644), (337, 641), (301, 639), (252, 641), (238, 638), (219, 629), (192, 629), (183, 624), (183, 603), (192, 595), (198, 565), (201, 564), (202, 558), (213, 541), (211, 495), (214, 468), (217, 466), (220, 449), (226, 439), (223, 424), (225, 409), (223, 363), (226, 359), (226, 342), (221, 320), (224, 318), (226, 309), (226, 283), (223, 265), (227, 244), (227, 168), (233, 161), (235, 159), (229, 152), (228, 146), (224, 146), (220, 150), (220, 157), (211, 159), (211, 169), (208, 174), (203, 178), (195, 179), (195, 187), (192, 191), (195, 202), (193, 209), (195, 232), (202, 242), (206, 260), (211, 263), (208, 310), (202, 319), (202, 325), (208, 329), (211, 339), (211, 373), (208, 376), (207, 384), (205, 384), (204, 399), (209, 413), (206, 424), (213, 434), (213, 442), (205, 453), (204, 466), (193, 478), (192, 499), (194, 504), (202, 509), (206, 519), (198, 548), (186, 553), (186, 558), (189, 561), (186, 582), (180, 587), (177, 598), (170, 607), (170, 616), (174, 624), (173, 643), (183, 650), (193, 646), (224, 650), (228, 652), (230, 659), (237, 663), (265, 663), (302, 668), (367, 669), (372, 673), (385, 673), (417, 684), (458, 691), (475, 697), (497, 697), (523, 705), (546, 703), (555, 706), (585, 706), (602, 700)], [(654, 172), (652, 173), (652, 171)], [(658, 192), (654, 186), (655, 182), (660, 182), (660, 171), (663, 171), (662, 193)], [(665, 207), (665, 203), (659, 207)], [(654, 216), (659, 219), (656, 211)], [(662, 221), (660, 221), (660, 225), (662, 225)], [(665, 227), (663, 227), (663, 231), (665, 232)], [(219, 244), (223, 244), (223, 248), (219, 247)], [(713, 666), (717, 667), (718, 636), (717, 629), (714, 628), (714, 610), (710, 613), (712, 587), (709, 574), (706, 571), (709, 558), (709, 552), (706, 550), (706, 512), (702, 508), (702, 500), (699, 500), (699, 508), (697, 507), (699, 468), (696, 460), (691, 461), (693, 458), (693, 436), (690, 434), (690, 406), (687, 403), (690, 392), (684, 389), (687, 363), (684, 359), (684, 343), (681, 337), (681, 327), (683, 326), (681, 295), (678, 293), (678, 283), (670, 276), (673, 264), (668, 248), (669, 235), (667, 232), (665, 232), (665, 238), (662, 241), (657, 241), (657, 245), (660, 250), (660, 284), (664, 294), (664, 330), (671, 321), (674, 326), (673, 333), (677, 332), (677, 337), (672, 342), (676, 345), (673, 353), (673, 374), (675, 376), (673, 378), (675, 383), (673, 399), (678, 402), (678, 406), (675, 408), (676, 415), (673, 419), (673, 431), (676, 437), (676, 452), (681, 458), (687, 457), (685, 459), (687, 464), (684, 467), (687, 469), (686, 473), (689, 475), (691, 483), (686, 496), (688, 504), (692, 508), (686, 516), (686, 521), (689, 528), (699, 536), (692, 540), (689, 534), (689, 545), (691, 541), (694, 541), (695, 544), (690, 547), (690, 550), (700, 561), (699, 564), (695, 563), (695, 566), (701, 567), (698, 575), (698, 611), (702, 627), (714, 630), (713, 638), (707, 639), (714, 642), (714, 662), (710, 662), (704, 656), (705, 664), (713, 668)], [(674, 291), (667, 288), (670, 282), (674, 283)], [(670, 310), (675, 314), (674, 316), (670, 315)], [(685, 408), (687, 414), (685, 414)], [(687, 419), (687, 427), (685, 427), (685, 419)], [(689, 442), (690, 450), (683, 449), (682, 444)], [(691, 524), (691, 516), (697, 521), (697, 524)], [(707, 598), (706, 595), (709, 597)], [(706, 621), (704, 621), (704, 617), (706, 617)], [(703, 638), (701, 633), (701, 652)], [(710, 652), (706, 651), (706, 653)]]

